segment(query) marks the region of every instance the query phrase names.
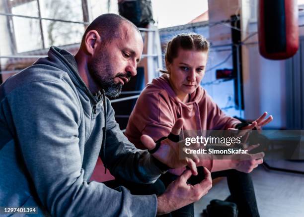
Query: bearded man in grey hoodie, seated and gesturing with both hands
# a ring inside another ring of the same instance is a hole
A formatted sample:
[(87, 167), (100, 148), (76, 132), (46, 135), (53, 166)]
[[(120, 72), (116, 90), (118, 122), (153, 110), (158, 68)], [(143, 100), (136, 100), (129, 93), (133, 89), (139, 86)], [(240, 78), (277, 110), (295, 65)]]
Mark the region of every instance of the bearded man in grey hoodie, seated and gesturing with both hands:
[[(157, 146), (143, 135), (150, 151), (136, 149), (119, 130), (105, 95), (118, 96), (136, 75), (142, 51), (141, 34), (130, 21), (104, 14), (87, 27), (75, 56), (51, 47), (48, 57), (0, 86), (1, 215), (12, 214), (4, 208), (34, 207), (38, 216), (155, 216), (208, 192), (207, 169), (201, 183), (186, 183), (197, 174), (197, 161), (179, 160), (173, 141), (183, 119)], [(99, 155), (123, 185), (152, 191), (139, 196), (125, 187), (89, 182)], [(184, 165), (190, 170), (156, 196), (159, 175)], [(23, 211), (27, 215), (33, 209)]]

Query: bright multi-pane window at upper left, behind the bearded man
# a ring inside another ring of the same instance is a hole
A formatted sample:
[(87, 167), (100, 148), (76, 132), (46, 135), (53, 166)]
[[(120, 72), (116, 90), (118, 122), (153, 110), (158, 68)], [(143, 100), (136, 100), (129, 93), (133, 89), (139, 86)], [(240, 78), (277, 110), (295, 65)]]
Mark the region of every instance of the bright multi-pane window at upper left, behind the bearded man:
[(6, 0), (6, 3), (7, 13), (22, 16), (9, 17), (15, 53), (79, 43), (84, 22), (89, 21), (86, 0)]

